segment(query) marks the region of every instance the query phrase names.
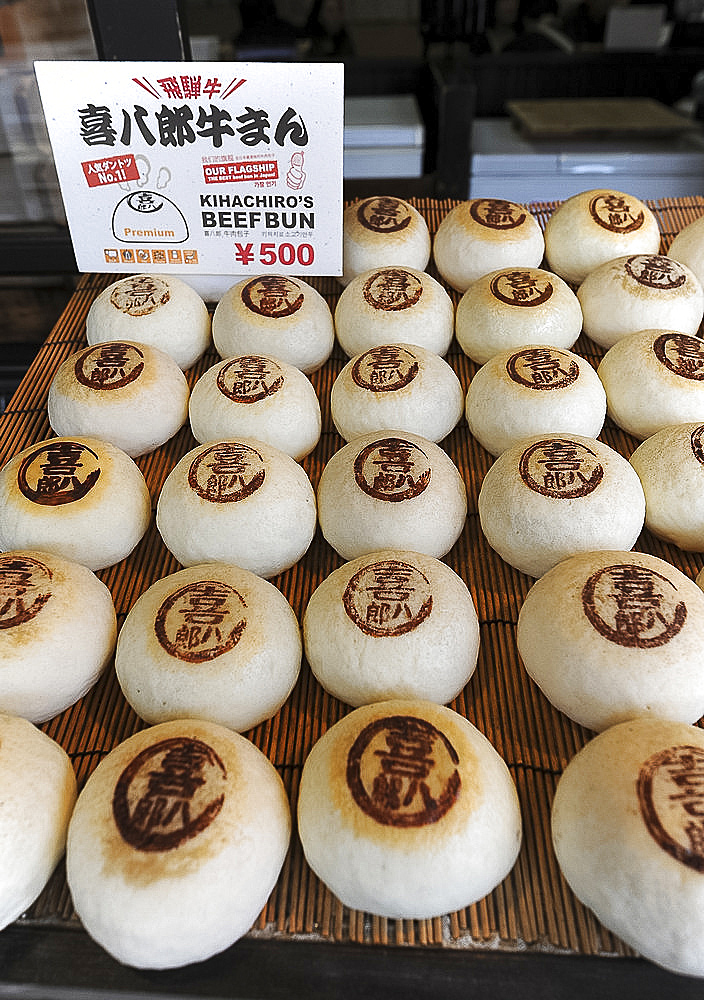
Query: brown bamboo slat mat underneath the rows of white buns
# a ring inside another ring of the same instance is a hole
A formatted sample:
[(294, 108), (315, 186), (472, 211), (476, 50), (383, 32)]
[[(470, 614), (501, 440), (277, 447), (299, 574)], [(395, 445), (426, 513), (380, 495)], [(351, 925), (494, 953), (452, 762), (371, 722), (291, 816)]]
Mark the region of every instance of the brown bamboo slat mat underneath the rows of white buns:
[[(409, 199), (424, 214), (431, 234), (454, 201)], [(683, 226), (704, 214), (704, 198), (651, 201), (650, 207), (667, 250)], [(541, 226), (556, 203), (529, 206)], [(429, 270), (438, 277), (432, 265)], [(49, 383), (58, 365), (85, 345), (88, 308), (112, 275), (84, 275), (64, 313), (40, 348), (22, 384), (0, 417), (0, 465), (27, 445), (52, 436), (46, 414)], [(307, 279), (334, 308), (340, 286), (333, 278)], [(451, 291), (455, 303), (459, 296)], [(596, 366), (603, 351), (584, 336), (574, 350)], [(188, 373), (195, 384), (219, 360), (214, 350)], [(342, 446), (330, 417), (330, 388), (346, 363), (339, 347), (311, 376), (320, 399), (323, 433), (319, 445), (303, 465), (313, 486), (330, 456)], [(477, 365), (456, 341), (447, 361), (466, 391)], [(637, 443), (607, 421), (600, 435), (629, 457)], [(151, 455), (137, 460), (150, 488), (153, 506), (161, 485), (176, 461), (195, 446), (188, 427)], [(470, 435), (466, 422), (445, 439), (443, 447), (463, 474), (468, 493), (468, 517), (462, 536), (445, 561), (467, 583), (479, 615), (479, 662), (470, 682), (452, 708), (470, 719), (493, 743), (515, 780), (524, 821), (523, 846), (514, 870), (485, 899), (443, 918), (393, 921), (347, 910), (313, 875), (303, 858), (295, 833), (291, 850), (274, 892), (252, 935), (269, 938), (328, 939), (373, 946), (441, 946), (446, 948), (555, 951), (586, 955), (630, 955), (629, 949), (594, 919), (572, 896), (562, 879), (550, 845), (549, 815), (557, 779), (563, 768), (592, 735), (554, 710), (523, 670), (515, 642), (522, 601), (532, 579), (505, 564), (486, 543), (477, 513), (482, 479), (492, 463)], [(702, 558), (681, 552), (643, 532), (637, 549), (652, 552), (694, 577)], [(304, 558), (276, 577), (299, 621), (311, 593), (342, 560), (319, 531)], [(164, 547), (154, 521), (135, 552), (122, 563), (98, 575), (110, 588), (121, 625), (133, 603), (155, 580), (180, 566)], [(305, 660), (299, 681), (283, 708), (247, 735), (272, 761), (285, 783), (295, 815), (303, 762), (325, 730), (348, 711), (320, 687)], [(117, 743), (142, 722), (125, 701), (114, 670), (73, 708), (42, 728), (69, 753), (79, 787)], [(21, 921), (31, 926), (76, 925), (62, 866)]]

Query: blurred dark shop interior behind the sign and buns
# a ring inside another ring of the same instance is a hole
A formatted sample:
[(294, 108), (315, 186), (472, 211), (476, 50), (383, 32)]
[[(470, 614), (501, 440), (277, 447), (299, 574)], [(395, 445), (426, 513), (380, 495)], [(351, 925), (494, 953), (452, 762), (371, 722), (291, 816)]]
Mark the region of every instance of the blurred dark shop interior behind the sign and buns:
[[(651, 17), (650, 36), (631, 27), (619, 42), (616, 20), (643, 13), (632, 5), (624, 15), (623, 6), (608, 0), (0, 2), (0, 345), (38, 346), (49, 328), (39, 317), (44, 310), (56, 317), (76, 278), (34, 60), (342, 62), (347, 199), (491, 192), (543, 200), (594, 179), (618, 180), (651, 198), (701, 193), (704, 0), (639, 4), (656, 8), (657, 32)], [(652, 98), (689, 119), (692, 131), (670, 144), (669, 164), (667, 150), (636, 148), (636, 140), (624, 137), (599, 148), (528, 148), (511, 126), (512, 101), (614, 97)], [(364, 145), (370, 116), (374, 143)], [(24, 350), (4, 346), (0, 377), (14, 378)]]

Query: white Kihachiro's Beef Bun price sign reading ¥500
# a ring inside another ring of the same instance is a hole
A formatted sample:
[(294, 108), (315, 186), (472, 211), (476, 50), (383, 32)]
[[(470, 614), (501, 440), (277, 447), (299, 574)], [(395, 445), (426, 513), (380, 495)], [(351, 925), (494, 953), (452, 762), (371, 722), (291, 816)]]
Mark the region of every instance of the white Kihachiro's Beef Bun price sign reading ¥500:
[(80, 271), (341, 274), (342, 65), (35, 72)]

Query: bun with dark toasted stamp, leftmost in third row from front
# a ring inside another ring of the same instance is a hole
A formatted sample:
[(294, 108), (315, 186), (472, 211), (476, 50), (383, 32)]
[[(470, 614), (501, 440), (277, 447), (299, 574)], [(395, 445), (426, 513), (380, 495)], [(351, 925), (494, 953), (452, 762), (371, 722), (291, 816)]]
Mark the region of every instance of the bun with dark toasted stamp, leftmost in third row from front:
[(0, 551), (40, 549), (94, 571), (125, 559), (151, 521), (141, 470), (97, 438), (49, 438), (0, 470)]

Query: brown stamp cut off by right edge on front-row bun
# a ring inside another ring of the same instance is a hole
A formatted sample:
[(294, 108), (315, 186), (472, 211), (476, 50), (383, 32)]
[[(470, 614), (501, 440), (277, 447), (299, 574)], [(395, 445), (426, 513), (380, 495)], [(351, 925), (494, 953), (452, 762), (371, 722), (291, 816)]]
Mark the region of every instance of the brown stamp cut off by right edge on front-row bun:
[(674, 746), (653, 754), (638, 773), (637, 794), (656, 844), (704, 873), (704, 749)]

